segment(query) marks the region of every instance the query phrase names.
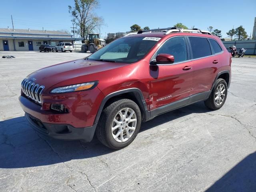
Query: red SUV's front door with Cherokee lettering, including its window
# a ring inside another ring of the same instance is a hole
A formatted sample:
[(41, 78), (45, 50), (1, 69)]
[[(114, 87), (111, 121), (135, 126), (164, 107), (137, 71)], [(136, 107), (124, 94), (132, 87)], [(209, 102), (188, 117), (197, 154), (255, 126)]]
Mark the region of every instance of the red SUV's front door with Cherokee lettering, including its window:
[(158, 54), (173, 55), (174, 63), (150, 66), (150, 110), (159, 110), (160, 107), (173, 102), (187, 104), (192, 87), (193, 68), (191, 61), (187, 61), (189, 56), (186, 38), (170, 38), (160, 47), (152, 60), (155, 60)]

